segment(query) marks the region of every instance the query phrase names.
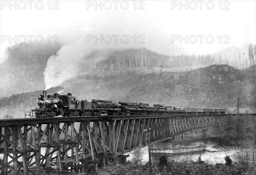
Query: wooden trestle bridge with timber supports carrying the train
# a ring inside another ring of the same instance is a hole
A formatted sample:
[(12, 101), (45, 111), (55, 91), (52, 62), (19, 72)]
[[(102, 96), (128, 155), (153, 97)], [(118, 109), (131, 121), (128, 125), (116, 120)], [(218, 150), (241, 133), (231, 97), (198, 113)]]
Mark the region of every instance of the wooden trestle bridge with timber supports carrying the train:
[[(256, 114), (240, 114), (256, 118)], [(138, 145), (181, 139), (234, 114), (54, 117), (0, 120), (0, 174), (68, 174), (87, 165), (105, 166)], [(176, 137), (175, 137), (176, 136)]]

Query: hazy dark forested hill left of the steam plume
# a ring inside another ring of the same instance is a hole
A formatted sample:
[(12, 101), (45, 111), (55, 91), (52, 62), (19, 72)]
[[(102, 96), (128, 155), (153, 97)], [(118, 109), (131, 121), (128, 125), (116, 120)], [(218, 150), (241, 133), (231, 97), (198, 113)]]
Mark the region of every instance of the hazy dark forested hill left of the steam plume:
[(57, 44), (19, 44), (7, 48), (9, 58), (1, 64), (1, 97), (44, 89), (47, 60), (60, 48)]

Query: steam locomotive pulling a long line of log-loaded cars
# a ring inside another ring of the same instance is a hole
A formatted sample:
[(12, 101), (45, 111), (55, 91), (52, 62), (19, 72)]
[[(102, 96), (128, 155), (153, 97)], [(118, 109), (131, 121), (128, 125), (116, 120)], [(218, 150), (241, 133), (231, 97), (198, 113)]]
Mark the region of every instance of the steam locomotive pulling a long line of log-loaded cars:
[(59, 95), (58, 93), (38, 96), (38, 107), (32, 110), (32, 116), (49, 118), (54, 116), (106, 116), (106, 115), (185, 115), (185, 114), (224, 114), (225, 109), (195, 109), (163, 106), (146, 103), (113, 103), (107, 100), (93, 99), (79, 101), (71, 93)]

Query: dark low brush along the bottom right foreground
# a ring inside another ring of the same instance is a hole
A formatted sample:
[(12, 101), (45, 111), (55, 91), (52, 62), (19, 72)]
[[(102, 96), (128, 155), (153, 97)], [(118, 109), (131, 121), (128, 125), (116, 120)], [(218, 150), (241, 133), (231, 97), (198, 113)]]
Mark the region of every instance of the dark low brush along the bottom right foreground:
[(234, 161), (227, 156), (225, 164), (210, 164), (201, 161), (167, 162), (165, 166), (158, 163), (141, 165), (133, 162), (127, 164), (110, 164), (108, 167), (98, 169), (98, 175), (255, 175), (256, 164), (250, 161)]

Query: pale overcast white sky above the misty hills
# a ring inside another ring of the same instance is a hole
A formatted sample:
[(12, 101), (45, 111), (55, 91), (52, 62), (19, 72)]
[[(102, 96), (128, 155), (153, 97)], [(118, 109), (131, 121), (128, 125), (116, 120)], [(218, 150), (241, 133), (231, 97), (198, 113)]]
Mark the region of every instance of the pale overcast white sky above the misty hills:
[(4, 49), (15, 44), (9, 40), (15, 35), (17, 43), (24, 41), (22, 35), (27, 43), (28, 35), (32, 41), (41, 35), (47, 43), (50, 35), (51, 43), (70, 45), (76, 40), (99, 44), (95, 36), (103, 36), (103, 48), (111, 39), (111, 47), (146, 47), (163, 54), (208, 54), (256, 43), (255, 0), (184, 0), (184, 6), (171, 0), (97, 1), (99, 6), (85, 0), (12, 1), (13, 6), (9, 2), (0, 1), (1, 59)]

